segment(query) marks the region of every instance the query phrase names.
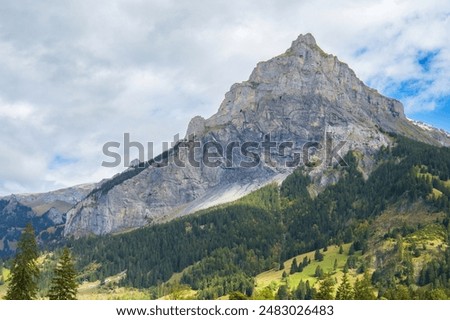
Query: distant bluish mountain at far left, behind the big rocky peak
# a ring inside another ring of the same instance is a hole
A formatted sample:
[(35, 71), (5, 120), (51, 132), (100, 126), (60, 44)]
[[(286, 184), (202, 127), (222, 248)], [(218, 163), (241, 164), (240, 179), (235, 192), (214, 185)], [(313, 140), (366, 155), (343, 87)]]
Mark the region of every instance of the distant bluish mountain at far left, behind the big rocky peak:
[(81, 201), (93, 184), (84, 184), (46, 193), (0, 197), (0, 257), (15, 251), (23, 228), (31, 222), (41, 243), (62, 238), (66, 213)]

